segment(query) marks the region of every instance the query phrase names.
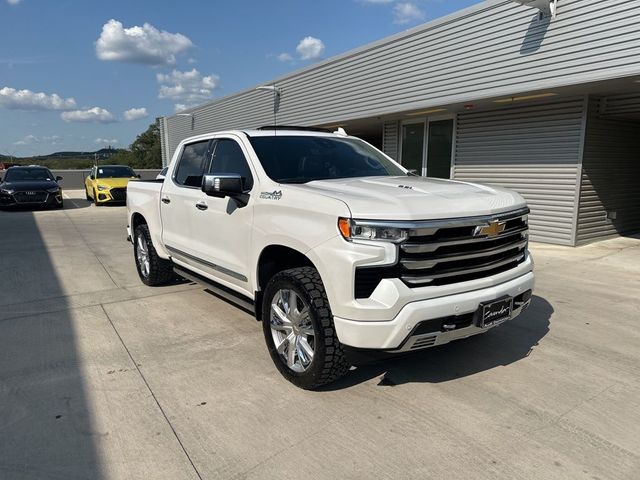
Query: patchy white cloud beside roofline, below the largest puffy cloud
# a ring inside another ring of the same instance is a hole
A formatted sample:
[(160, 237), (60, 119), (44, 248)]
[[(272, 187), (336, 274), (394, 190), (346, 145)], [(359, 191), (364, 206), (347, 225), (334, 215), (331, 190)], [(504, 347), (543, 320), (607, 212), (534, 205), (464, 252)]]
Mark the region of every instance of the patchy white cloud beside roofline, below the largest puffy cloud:
[(190, 108), (212, 98), (213, 91), (220, 81), (217, 75), (203, 77), (195, 68), (188, 72), (174, 70), (167, 74), (158, 73), (156, 79), (160, 84), (158, 98), (177, 102), (176, 111)]

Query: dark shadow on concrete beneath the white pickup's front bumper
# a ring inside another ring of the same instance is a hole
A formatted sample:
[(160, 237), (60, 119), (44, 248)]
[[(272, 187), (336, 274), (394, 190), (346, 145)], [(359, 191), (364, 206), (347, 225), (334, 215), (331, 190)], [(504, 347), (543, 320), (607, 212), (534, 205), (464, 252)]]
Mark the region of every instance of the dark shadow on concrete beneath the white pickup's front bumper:
[(440, 383), (509, 365), (529, 356), (549, 332), (553, 306), (534, 295), (519, 317), (485, 334), (402, 356), (356, 363), (324, 391), (341, 390), (379, 377), (379, 386)]

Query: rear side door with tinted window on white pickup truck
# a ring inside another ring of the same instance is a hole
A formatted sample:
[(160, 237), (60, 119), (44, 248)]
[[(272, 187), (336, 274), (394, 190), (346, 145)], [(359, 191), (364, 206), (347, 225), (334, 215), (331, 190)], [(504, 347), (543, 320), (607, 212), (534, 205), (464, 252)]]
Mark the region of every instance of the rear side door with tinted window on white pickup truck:
[(193, 216), (200, 201), (202, 174), (209, 164), (211, 140), (185, 145), (171, 176), (165, 178), (160, 192), (162, 243), (172, 257), (191, 266), (194, 255)]

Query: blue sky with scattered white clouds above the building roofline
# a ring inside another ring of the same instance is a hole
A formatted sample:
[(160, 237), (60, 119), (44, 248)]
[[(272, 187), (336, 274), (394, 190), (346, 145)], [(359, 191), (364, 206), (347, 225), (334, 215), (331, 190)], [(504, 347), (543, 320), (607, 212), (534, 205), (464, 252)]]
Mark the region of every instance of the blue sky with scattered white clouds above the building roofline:
[(149, 123), (477, 0), (0, 0), (0, 153), (128, 146)]

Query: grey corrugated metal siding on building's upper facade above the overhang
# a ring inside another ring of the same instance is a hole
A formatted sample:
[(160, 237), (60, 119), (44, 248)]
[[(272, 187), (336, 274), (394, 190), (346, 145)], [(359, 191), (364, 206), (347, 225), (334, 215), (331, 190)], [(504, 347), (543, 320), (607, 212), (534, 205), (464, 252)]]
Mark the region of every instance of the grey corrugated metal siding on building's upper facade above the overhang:
[[(277, 79), (282, 123), (319, 125), (640, 73), (640, 0), (561, 0), (558, 17), (489, 0)], [(272, 123), (247, 90), (170, 117), (191, 134)]]

